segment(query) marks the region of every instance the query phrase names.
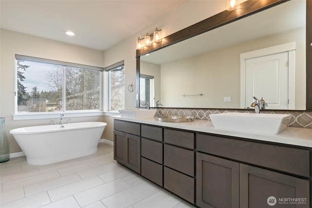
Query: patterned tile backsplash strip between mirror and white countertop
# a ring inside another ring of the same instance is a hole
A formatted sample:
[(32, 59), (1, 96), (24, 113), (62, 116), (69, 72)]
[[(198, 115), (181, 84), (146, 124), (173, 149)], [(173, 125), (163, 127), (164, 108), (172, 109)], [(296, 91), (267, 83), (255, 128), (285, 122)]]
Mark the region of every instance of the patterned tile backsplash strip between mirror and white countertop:
[[(210, 120), (209, 115), (215, 113), (239, 112), (254, 113), (253, 109), (209, 109), (209, 108), (157, 108), (156, 115), (194, 116), (199, 120)], [(291, 114), (288, 126), (312, 128), (312, 111), (304, 110), (261, 110), (261, 113)]]

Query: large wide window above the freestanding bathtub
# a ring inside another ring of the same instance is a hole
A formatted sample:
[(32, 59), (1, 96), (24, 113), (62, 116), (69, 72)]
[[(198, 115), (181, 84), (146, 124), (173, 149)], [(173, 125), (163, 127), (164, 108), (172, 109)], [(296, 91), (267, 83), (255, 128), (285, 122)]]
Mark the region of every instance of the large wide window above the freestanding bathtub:
[(16, 55), (16, 113), (101, 110), (103, 68)]

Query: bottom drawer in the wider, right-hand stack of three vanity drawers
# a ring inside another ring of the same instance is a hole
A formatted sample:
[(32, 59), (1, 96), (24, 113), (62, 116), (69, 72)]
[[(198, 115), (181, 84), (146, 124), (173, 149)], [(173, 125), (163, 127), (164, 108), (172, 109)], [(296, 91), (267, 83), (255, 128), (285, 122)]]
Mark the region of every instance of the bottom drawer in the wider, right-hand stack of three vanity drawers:
[(191, 203), (195, 201), (195, 179), (168, 167), (164, 167), (164, 188)]

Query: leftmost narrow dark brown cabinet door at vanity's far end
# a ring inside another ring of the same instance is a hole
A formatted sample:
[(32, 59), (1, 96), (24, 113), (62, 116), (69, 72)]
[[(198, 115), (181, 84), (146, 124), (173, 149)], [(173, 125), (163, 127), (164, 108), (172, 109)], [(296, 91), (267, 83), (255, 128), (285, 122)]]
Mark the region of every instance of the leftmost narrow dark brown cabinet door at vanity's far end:
[(114, 131), (114, 160), (126, 164), (126, 137), (125, 133)]

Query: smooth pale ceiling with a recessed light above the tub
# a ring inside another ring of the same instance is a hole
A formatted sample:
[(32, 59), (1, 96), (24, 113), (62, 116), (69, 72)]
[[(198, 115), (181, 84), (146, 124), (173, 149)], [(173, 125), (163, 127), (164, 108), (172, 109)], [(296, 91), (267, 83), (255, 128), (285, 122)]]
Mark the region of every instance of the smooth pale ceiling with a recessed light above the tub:
[(0, 0), (0, 28), (104, 51), (188, 1)]

